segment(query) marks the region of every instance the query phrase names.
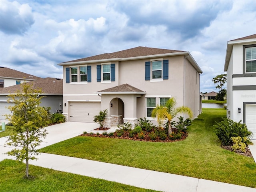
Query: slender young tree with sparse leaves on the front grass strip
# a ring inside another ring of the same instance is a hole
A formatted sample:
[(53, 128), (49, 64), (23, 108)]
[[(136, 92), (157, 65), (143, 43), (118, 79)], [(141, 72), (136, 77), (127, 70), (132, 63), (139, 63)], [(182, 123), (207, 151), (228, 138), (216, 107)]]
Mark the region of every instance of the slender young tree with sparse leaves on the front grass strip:
[(28, 160), (34, 160), (38, 155), (38, 146), (42, 142), (41, 138), (46, 137), (46, 129), (49, 118), (45, 108), (40, 107), (38, 94), (42, 90), (33, 89), (26, 82), (21, 84), (21, 90), (14, 94), (8, 95), (8, 102), (14, 103), (14, 106), (9, 106), (8, 109), (12, 115), (6, 115), (10, 123), (12, 123), (12, 131), (8, 138), (7, 144), (15, 148), (7, 152), (10, 156), (16, 156), (18, 161), (26, 160), (26, 177), (28, 174)]

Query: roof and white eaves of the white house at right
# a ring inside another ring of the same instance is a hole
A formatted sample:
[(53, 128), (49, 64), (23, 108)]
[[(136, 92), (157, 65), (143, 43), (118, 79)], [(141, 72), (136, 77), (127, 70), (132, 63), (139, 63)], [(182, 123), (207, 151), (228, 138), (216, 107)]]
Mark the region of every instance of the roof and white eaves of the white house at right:
[(242, 43), (250, 43), (250, 42), (252, 42), (252, 44), (256, 44), (256, 34), (228, 41), (225, 64), (224, 64), (224, 71), (228, 70), (228, 64), (229, 64), (229, 60), (231, 57), (233, 45), (234, 44), (242, 44)]

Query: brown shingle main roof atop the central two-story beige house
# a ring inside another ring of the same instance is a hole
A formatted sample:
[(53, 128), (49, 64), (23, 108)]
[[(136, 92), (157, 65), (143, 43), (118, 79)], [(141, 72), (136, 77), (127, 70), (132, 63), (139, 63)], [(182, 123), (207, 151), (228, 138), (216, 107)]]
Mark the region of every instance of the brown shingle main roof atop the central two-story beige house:
[[(104, 54), (81, 58), (81, 59), (72, 60), (68, 62), (92, 61), (92, 60), (103, 60), (103, 59), (113, 59), (113, 58), (130, 58), (130, 57), (158, 55), (158, 54), (167, 54), (167, 53), (175, 53), (175, 52), (184, 52), (184, 51), (139, 46), (139, 47), (126, 49), (118, 52), (104, 53)], [(68, 63), (68, 62), (63, 62), (63, 63)]]

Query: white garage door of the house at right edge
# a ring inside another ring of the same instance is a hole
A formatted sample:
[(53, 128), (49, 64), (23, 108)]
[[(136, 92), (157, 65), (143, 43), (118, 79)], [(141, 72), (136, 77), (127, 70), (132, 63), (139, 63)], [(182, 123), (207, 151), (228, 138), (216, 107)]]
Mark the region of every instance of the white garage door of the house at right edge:
[(245, 106), (245, 124), (253, 133), (253, 139), (256, 139), (256, 104), (250, 104)]

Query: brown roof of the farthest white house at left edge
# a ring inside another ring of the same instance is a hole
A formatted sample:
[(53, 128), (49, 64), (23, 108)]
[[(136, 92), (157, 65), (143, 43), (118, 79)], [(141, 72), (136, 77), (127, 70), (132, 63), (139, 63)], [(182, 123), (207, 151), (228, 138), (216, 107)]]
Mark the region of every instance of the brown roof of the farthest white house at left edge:
[(14, 69), (10, 69), (7, 67), (0, 67), (0, 78), (16, 78), (16, 79), (24, 79), (24, 80), (38, 80), (42, 79), (40, 77), (30, 75), (27, 73), (23, 73), (20, 71), (16, 71)]

